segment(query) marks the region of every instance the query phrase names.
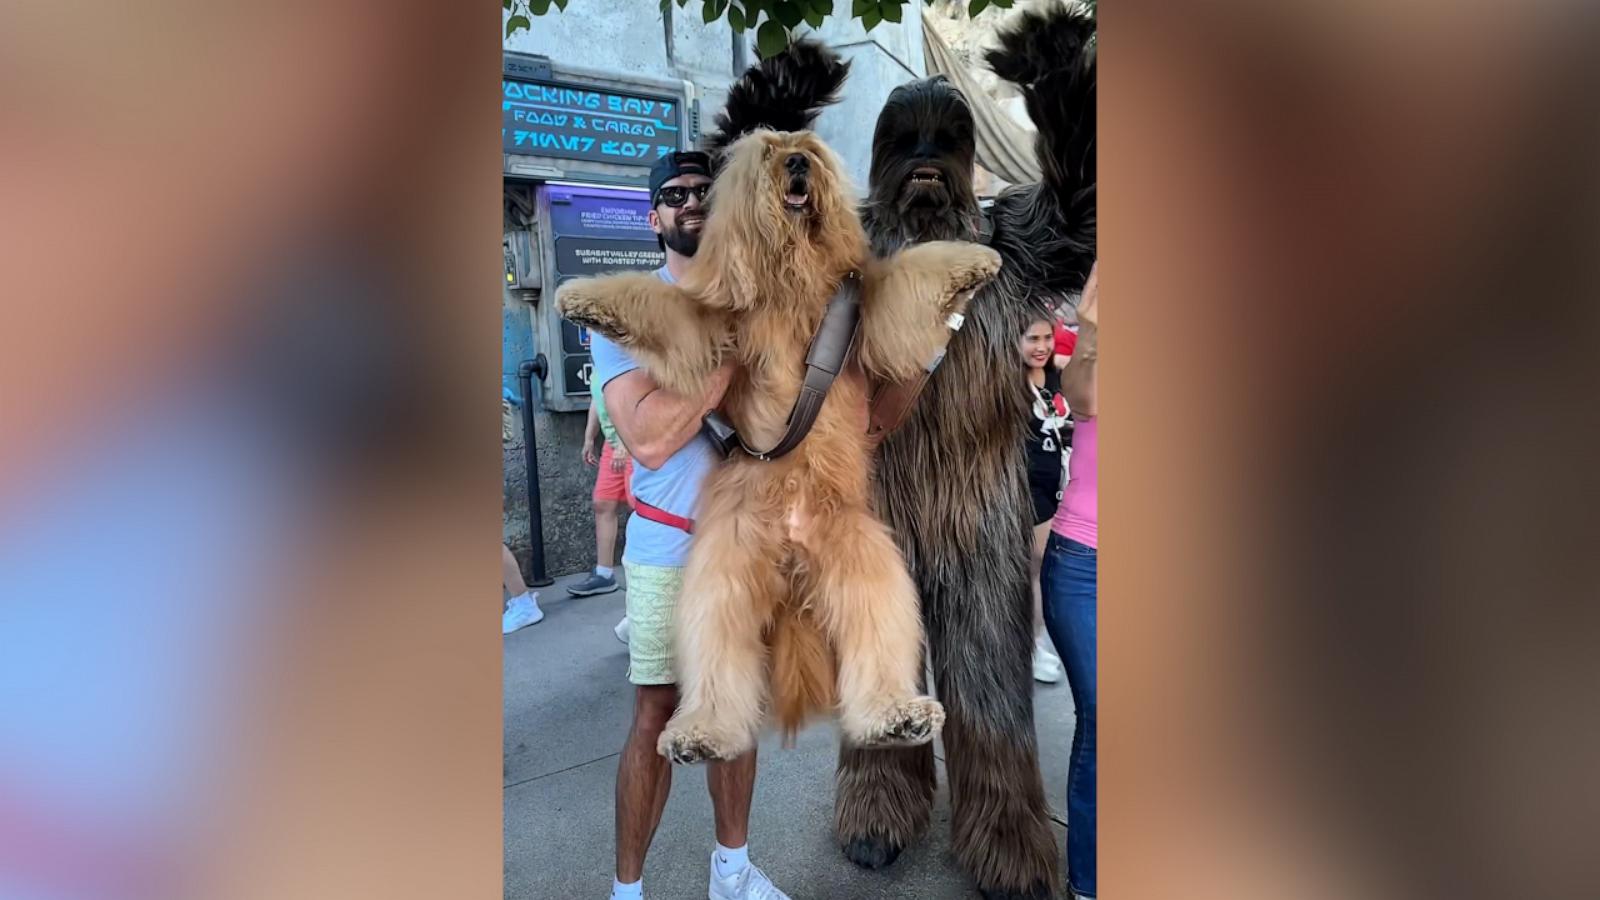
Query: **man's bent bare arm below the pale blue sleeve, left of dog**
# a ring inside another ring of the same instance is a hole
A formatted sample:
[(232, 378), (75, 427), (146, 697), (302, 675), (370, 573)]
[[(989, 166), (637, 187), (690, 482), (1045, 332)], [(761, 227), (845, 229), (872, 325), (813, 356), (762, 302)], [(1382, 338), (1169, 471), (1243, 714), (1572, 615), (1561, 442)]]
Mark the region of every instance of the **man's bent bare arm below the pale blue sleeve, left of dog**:
[(659, 469), (674, 453), (694, 440), (701, 420), (717, 408), (733, 378), (733, 364), (723, 364), (706, 380), (699, 397), (674, 394), (656, 384), (643, 368), (606, 381), (605, 408), (618, 437), (648, 469)]

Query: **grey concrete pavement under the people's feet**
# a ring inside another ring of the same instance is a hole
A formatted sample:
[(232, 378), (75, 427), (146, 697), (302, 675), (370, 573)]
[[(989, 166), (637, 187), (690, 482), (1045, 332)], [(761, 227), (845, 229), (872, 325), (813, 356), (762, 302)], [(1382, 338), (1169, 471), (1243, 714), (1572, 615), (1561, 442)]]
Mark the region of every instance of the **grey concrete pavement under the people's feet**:
[[(627, 647), (611, 634), (622, 591), (568, 597), (539, 589), (544, 621), (506, 637), (506, 897), (603, 900), (613, 878), (616, 761), (632, 719)], [(1035, 685), (1045, 788), (1066, 841), (1072, 700), (1066, 682)], [(968, 900), (978, 892), (949, 854), (950, 807), (939, 762), (933, 828), (885, 871), (862, 871), (834, 846), (837, 732), (821, 722), (782, 749), (762, 740), (750, 858), (794, 900)], [(706, 897), (714, 842), (704, 767), (675, 767), (645, 860), (646, 900)]]

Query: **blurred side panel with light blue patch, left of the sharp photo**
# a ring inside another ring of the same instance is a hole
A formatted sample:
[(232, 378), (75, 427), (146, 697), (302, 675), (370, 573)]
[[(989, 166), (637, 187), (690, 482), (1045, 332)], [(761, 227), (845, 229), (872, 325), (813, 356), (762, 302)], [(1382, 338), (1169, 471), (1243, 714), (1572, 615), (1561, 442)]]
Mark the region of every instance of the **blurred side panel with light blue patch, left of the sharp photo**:
[(0, 11), (0, 897), (499, 890), (498, 18)]

